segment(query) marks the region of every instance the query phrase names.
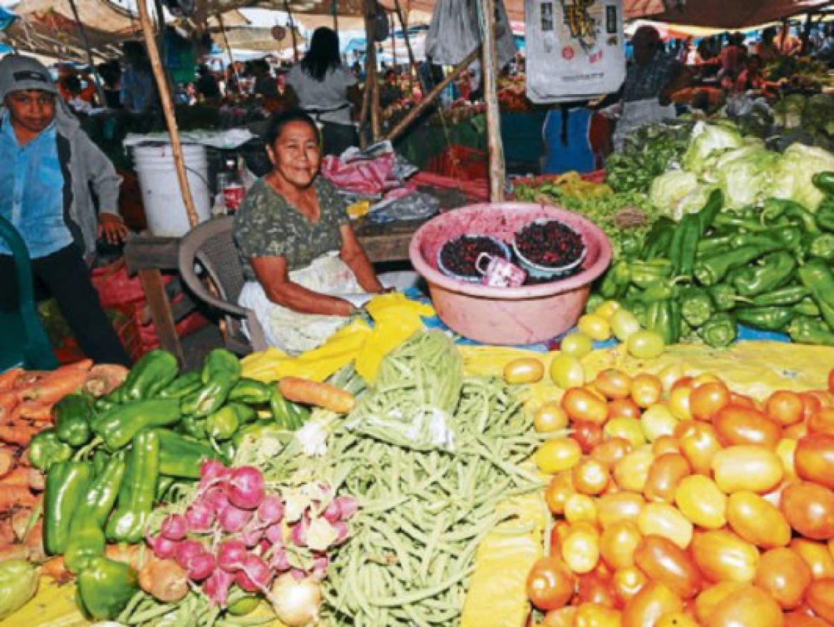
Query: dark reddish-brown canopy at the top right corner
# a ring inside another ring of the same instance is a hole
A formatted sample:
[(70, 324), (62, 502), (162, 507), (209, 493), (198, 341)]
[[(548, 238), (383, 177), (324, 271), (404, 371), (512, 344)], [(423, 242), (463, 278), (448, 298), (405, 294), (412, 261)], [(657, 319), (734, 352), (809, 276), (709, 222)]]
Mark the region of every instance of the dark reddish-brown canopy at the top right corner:
[(773, 22), (831, 4), (831, 0), (625, 0), (623, 8), (625, 18), (726, 30)]

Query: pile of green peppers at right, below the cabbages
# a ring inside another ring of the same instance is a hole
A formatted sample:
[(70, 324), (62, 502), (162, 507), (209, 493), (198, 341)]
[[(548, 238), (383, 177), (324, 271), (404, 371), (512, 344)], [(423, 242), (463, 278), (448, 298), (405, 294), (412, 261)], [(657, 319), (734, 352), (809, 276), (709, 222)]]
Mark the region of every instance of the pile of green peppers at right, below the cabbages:
[(660, 218), (641, 247), (624, 248), (596, 293), (667, 343), (726, 346), (742, 324), (834, 344), (834, 173), (813, 182), (826, 194), (816, 212), (777, 198), (723, 211), (714, 190), (699, 212)]

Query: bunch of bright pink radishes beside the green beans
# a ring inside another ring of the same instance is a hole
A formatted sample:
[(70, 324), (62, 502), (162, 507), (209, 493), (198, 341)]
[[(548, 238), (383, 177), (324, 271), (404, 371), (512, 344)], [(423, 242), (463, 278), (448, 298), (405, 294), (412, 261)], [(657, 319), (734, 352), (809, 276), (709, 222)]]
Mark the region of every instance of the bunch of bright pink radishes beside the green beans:
[[(334, 497), (325, 484), (315, 484), (315, 499), (293, 504), (266, 489), (264, 475), (253, 466), (227, 468), (210, 460), (200, 469), (200, 483), (184, 514), (169, 514), (148, 545), (160, 559), (173, 559), (202, 586), (214, 603), (226, 605), (229, 589), (269, 596), (274, 577), (324, 579), (327, 549), (348, 537), (347, 520), (357, 504)], [(288, 544), (285, 544), (288, 543)], [(289, 550), (288, 550), (289, 549)], [(304, 554), (313, 564), (291, 564), (289, 552)]]

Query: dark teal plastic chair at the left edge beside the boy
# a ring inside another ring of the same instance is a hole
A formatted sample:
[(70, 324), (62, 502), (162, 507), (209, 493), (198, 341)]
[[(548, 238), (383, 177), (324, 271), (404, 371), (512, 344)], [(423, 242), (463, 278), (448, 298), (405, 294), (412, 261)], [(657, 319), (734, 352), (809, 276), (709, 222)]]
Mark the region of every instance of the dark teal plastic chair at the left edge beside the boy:
[(18, 310), (0, 309), (0, 372), (16, 366), (28, 370), (58, 368), (58, 359), (55, 359), (52, 344), (35, 306), (32, 262), (26, 243), (18, 229), (2, 217), (0, 238), (12, 250), (18, 278)]

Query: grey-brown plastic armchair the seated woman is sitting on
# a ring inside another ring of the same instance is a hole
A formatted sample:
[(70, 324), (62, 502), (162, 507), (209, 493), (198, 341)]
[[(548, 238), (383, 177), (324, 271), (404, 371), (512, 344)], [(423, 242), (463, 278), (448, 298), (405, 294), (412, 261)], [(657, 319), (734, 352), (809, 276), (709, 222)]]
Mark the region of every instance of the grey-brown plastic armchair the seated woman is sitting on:
[[(223, 312), (226, 321), (224, 344), (233, 353), (244, 355), (267, 348), (264, 329), (254, 311), (240, 307), (238, 297), (244, 288), (244, 269), (232, 236), (234, 217), (214, 218), (198, 224), (179, 242), (179, 273), (199, 300)], [(202, 266), (218, 293), (211, 293), (194, 269)], [(249, 331), (244, 334), (243, 325)]]

